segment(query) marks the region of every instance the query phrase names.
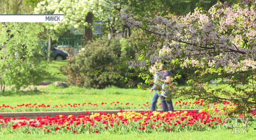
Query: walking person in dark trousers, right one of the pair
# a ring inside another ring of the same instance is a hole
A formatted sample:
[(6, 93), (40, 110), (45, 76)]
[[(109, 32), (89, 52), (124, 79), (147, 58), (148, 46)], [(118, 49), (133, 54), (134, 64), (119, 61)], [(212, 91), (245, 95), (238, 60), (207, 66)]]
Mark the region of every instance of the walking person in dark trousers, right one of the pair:
[(166, 91), (169, 89), (168, 85), (171, 82), (171, 72), (164, 70), (163, 75), (162, 75), (162, 80), (164, 80), (164, 84), (162, 84), (162, 94), (160, 95), (160, 101), (161, 101), (161, 106), (164, 112), (168, 111), (174, 111), (173, 104), (172, 104), (172, 99), (170, 98), (169, 101), (166, 100)]

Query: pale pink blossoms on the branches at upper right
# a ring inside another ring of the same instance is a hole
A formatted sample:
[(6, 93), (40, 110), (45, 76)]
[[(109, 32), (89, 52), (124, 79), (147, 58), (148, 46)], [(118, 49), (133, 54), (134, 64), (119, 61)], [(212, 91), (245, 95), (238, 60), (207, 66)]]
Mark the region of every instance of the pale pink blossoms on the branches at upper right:
[[(217, 3), (208, 11), (195, 9), (193, 13), (171, 19), (147, 14), (143, 17), (146, 22), (128, 13), (122, 13), (120, 19), (131, 28), (152, 33), (154, 40), (148, 41), (146, 51), (157, 50), (159, 42), (163, 43), (159, 53), (148, 53), (151, 56), (147, 63), (143, 63), (145, 65), (154, 67), (157, 62), (171, 62), (178, 58), (183, 67), (206, 64), (234, 73), (256, 68), (254, 3), (254, 0), (243, 0), (238, 4)], [(141, 62), (129, 64), (142, 66)]]

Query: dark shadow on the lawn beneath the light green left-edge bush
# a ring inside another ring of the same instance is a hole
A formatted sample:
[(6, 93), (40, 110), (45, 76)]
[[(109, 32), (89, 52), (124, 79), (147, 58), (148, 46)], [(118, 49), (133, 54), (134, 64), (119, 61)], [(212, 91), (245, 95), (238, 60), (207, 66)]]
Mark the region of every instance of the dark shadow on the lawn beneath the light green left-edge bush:
[(39, 90), (29, 90), (29, 91), (5, 91), (0, 93), (1, 96), (22, 96), (22, 95), (39, 95), (42, 94)]

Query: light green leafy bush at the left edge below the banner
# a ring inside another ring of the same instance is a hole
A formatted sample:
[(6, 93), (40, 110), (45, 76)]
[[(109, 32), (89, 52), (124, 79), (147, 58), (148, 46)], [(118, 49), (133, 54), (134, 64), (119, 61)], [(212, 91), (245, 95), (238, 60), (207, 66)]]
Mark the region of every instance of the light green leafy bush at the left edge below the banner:
[(41, 28), (35, 24), (5, 23), (1, 29), (0, 84), (2, 87), (11, 86), (19, 90), (21, 87), (38, 84), (45, 75), (46, 67), (42, 57), (42, 44), (35, 33)]

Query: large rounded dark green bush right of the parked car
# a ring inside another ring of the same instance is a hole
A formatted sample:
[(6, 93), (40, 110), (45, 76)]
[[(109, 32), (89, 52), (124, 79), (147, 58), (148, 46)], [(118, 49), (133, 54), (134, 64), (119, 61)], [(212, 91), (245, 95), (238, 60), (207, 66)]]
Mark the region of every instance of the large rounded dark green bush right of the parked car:
[(139, 57), (142, 41), (136, 40), (138, 36), (145, 38), (138, 31), (127, 39), (114, 37), (109, 40), (107, 36), (102, 36), (88, 43), (84, 51), (70, 58), (62, 68), (64, 73), (68, 73), (67, 81), (86, 88), (123, 87), (125, 83), (136, 82), (138, 77), (129, 70), (124, 60)]

